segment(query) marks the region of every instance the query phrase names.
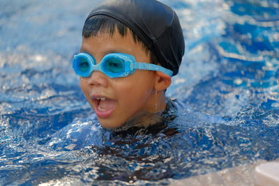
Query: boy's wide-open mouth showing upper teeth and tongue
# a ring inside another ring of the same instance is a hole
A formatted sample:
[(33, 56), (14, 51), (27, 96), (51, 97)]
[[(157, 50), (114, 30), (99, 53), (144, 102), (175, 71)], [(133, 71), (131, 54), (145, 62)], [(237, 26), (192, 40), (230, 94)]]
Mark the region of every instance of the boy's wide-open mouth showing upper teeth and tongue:
[(93, 97), (95, 114), (100, 118), (107, 118), (112, 115), (116, 107), (116, 101), (104, 97)]

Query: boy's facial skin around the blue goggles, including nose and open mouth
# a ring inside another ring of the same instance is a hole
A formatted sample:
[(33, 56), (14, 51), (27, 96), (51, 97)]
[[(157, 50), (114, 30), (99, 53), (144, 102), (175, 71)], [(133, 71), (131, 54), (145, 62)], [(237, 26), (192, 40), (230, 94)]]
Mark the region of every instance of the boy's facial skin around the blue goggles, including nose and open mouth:
[[(113, 36), (102, 33), (95, 37), (83, 38), (81, 52), (88, 52), (99, 63), (110, 53), (125, 53), (135, 56), (137, 62), (150, 63), (142, 45), (133, 40), (128, 31), (121, 36), (118, 31)], [(91, 77), (80, 78), (80, 86), (103, 127), (120, 127), (144, 112), (156, 112), (156, 72), (135, 70), (127, 77), (107, 77), (95, 71)], [(105, 98), (105, 99), (104, 99)]]

